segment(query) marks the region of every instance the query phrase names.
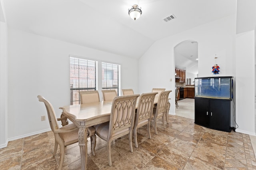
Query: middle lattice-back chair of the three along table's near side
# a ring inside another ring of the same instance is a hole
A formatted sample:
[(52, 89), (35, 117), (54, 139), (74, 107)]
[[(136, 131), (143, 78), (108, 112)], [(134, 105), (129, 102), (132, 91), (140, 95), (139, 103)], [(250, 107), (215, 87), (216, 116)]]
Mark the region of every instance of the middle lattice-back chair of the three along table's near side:
[(150, 121), (153, 113), (154, 99), (157, 92), (142, 93), (138, 102), (137, 111), (134, 120), (134, 143), (138, 148), (137, 129), (144, 125), (148, 125), (148, 138), (151, 139)]

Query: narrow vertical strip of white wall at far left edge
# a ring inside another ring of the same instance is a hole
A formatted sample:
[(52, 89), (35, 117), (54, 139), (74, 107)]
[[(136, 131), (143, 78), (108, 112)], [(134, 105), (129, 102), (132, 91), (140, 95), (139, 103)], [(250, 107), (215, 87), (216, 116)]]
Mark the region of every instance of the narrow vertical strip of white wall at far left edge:
[(7, 77), (7, 25), (0, 22), (0, 148), (8, 144), (8, 77)]

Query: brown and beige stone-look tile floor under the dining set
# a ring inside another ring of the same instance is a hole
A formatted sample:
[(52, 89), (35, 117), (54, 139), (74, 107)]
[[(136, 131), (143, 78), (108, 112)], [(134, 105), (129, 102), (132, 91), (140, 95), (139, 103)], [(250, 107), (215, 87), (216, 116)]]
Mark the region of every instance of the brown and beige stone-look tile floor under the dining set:
[[(138, 130), (139, 147), (129, 151), (128, 137), (115, 140), (112, 147), (112, 167), (108, 166), (106, 142), (97, 138), (96, 156), (90, 152), (88, 142), (89, 170), (136, 169), (136, 170), (253, 170), (256, 160), (250, 136), (238, 132), (221, 132), (194, 124), (194, 112), (182, 117), (182, 103), (178, 102), (177, 115), (169, 116), (164, 129), (158, 122), (158, 135), (151, 127), (152, 138), (148, 139), (146, 127)], [(191, 102), (191, 101), (190, 101)], [(193, 102), (193, 101), (192, 101)], [(186, 105), (186, 104), (184, 104)], [(180, 110), (179, 110), (180, 109)], [(187, 118), (191, 116), (191, 118)], [(134, 143), (133, 143), (134, 146)], [(52, 156), (54, 136), (45, 132), (10, 141), (0, 149), (2, 170), (55, 170), (58, 169), (59, 151)], [(78, 144), (67, 146), (64, 170), (80, 169)]]

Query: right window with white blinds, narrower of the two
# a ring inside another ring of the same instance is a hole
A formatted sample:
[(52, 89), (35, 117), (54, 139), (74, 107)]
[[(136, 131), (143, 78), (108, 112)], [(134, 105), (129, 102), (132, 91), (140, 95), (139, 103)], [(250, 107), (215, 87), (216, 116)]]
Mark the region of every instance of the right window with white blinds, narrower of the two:
[(120, 65), (102, 62), (102, 90), (116, 90), (119, 96), (120, 87)]

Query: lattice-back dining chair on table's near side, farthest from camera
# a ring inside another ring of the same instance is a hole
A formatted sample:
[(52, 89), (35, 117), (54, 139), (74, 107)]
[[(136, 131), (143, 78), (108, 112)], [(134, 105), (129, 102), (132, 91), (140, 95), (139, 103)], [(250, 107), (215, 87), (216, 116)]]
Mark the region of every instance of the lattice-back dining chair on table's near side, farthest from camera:
[(156, 127), (156, 121), (158, 118), (162, 117), (162, 123), (165, 128), (164, 117), (166, 116), (168, 97), (169, 97), (170, 92), (171, 92), (171, 90), (162, 91), (158, 97), (157, 105), (153, 109), (152, 119), (154, 120), (154, 128), (155, 128), (156, 134), (158, 134), (157, 127)]

